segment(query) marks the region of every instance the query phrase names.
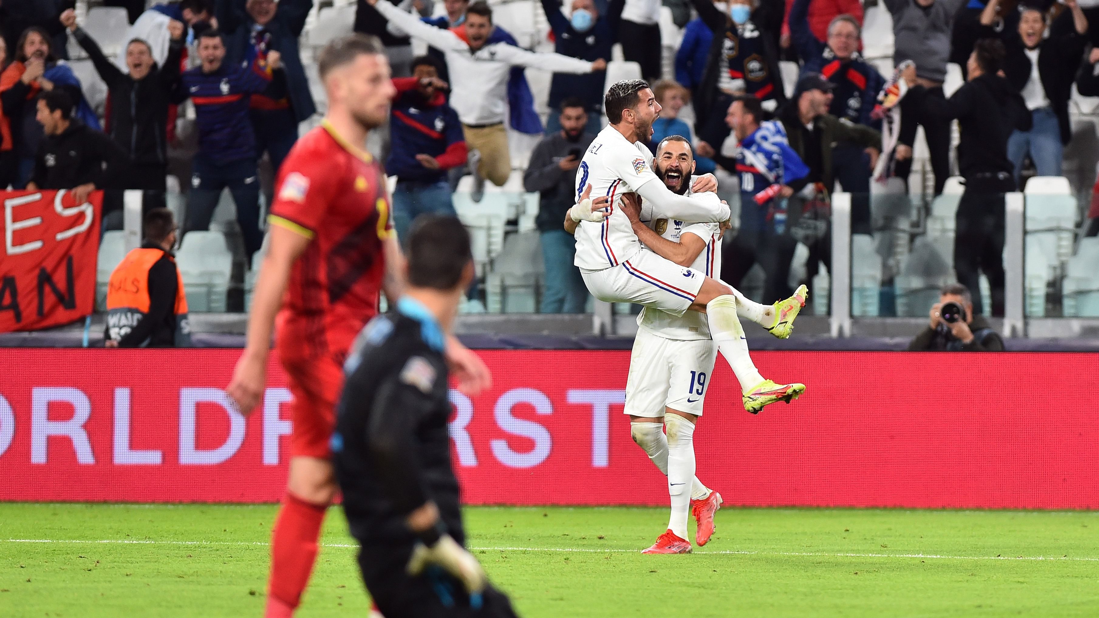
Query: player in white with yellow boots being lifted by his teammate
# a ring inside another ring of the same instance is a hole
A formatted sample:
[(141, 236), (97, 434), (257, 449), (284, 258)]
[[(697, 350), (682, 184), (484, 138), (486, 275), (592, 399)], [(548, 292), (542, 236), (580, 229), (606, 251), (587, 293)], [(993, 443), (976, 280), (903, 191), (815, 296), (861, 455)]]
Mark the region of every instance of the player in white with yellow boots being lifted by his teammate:
[[(776, 384), (759, 375), (748, 355), (737, 312), (785, 338), (804, 297), (770, 308), (748, 305), (726, 284), (642, 246), (620, 208), (623, 194), (636, 192), (669, 220), (720, 223), (729, 219), (729, 207), (718, 199), (678, 195), (658, 181), (651, 167), (652, 154), (643, 142), (653, 134), (660, 106), (646, 82), (612, 85), (604, 109), (610, 124), (599, 132), (580, 162), (576, 176), (580, 201), (569, 211), (574, 221), (580, 221), (575, 264), (588, 291), (607, 302), (636, 302), (674, 317), (688, 310), (704, 313), (710, 338), (740, 382), (744, 409), (756, 413), (775, 401), (796, 399), (804, 391), (803, 384)], [(693, 189), (710, 190), (697, 183)], [(599, 198), (591, 200), (590, 195)], [(601, 208), (609, 208), (610, 213), (600, 212)]]

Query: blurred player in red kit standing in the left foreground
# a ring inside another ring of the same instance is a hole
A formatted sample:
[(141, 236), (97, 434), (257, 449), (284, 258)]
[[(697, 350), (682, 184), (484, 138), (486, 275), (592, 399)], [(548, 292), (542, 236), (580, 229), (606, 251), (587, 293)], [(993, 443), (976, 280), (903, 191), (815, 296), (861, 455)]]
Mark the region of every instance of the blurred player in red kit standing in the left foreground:
[[(386, 178), (363, 150), (369, 130), (389, 115), (389, 63), (377, 38), (352, 35), (330, 43), (318, 65), (329, 110), (279, 172), (247, 344), (229, 386), (242, 412), (256, 408), (277, 321), (276, 349), (293, 395), (293, 433), (287, 493), (271, 534), (265, 616), (273, 618), (297, 608), (336, 490), (329, 441), (344, 356), (377, 313), (379, 294), (395, 302), (403, 287)], [(488, 369), (476, 354), (453, 339), (446, 353), (459, 388), (476, 393), (488, 386)]]

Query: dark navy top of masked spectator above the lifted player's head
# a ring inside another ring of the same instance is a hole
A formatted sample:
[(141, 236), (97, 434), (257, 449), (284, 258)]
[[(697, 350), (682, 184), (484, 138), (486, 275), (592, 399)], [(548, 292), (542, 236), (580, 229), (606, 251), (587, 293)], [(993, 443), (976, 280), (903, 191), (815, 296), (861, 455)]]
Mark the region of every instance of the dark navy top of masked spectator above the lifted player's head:
[[(622, 21), (625, 0), (611, 0), (606, 15), (599, 15), (591, 30), (577, 32), (571, 22), (560, 12), (560, 2), (542, 0), (542, 9), (550, 20), (554, 35), (554, 52), (563, 56), (595, 62), (599, 58), (610, 62), (611, 46), (618, 41), (618, 26)], [(578, 97), (587, 103), (588, 111), (598, 111), (603, 102), (603, 81), (607, 71), (598, 70), (587, 75), (555, 73), (550, 85), (550, 109), (556, 110), (562, 100)], [(553, 112), (551, 112), (553, 113)]]

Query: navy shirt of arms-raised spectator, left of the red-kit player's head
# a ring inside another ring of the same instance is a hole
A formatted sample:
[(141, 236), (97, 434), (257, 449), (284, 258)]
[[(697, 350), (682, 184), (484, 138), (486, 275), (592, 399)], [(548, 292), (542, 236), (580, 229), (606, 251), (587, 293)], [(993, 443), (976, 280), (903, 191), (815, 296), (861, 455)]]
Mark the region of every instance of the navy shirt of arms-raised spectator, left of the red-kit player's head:
[(270, 71), (263, 70), (260, 63), (248, 68), (222, 63), (209, 74), (201, 66), (184, 71), (171, 99), (181, 103), (190, 98), (195, 103), (200, 154), (218, 163), (256, 158), (248, 101), (251, 95), (266, 90), (270, 80)]

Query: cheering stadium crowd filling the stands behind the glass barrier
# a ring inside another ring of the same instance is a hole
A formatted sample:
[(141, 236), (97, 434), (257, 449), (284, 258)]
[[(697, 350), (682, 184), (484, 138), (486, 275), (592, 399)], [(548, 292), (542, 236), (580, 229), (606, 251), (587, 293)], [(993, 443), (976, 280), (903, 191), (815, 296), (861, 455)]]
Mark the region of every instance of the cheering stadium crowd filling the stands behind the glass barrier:
[[(664, 0), (682, 29), (673, 63), (662, 58), (667, 45), (660, 0), (542, 0), (548, 32), (541, 43), (547, 45), (536, 46), (547, 49), (552, 42), (553, 52), (520, 47), (485, 1), (443, 0), (437, 10), (433, 0), (358, 0), (354, 29), (382, 40), (393, 70), (382, 154), (396, 177), (399, 235), (420, 214), (454, 213), (463, 175), (474, 176), (475, 202), (486, 180), (508, 183), (509, 130), (541, 134), (522, 173), (524, 189), (541, 194), (541, 311), (582, 311), (588, 295), (560, 221), (574, 202), (579, 159), (604, 123), (608, 63), (621, 44), (622, 56), (636, 63), (662, 107), (650, 147), (685, 135), (693, 145), (696, 173), (718, 170), (741, 181), (740, 221), (724, 244), (731, 265), (724, 278), (739, 286), (758, 262), (766, 302), (789, 295), (789, 264), (799, 243), (809, 249), (806, 283), (819, 264), (829, 265), (829, 203), (836, 183), (853, 195), (852, 231), (872, 231), (872, 183), (897, 178), (907, 186), (918, 128), (933, 195), (942, 192), (957, 174), (951, 163), (957, 119), (963, 152), (956, 167), (969, 195), (958, 214), (964, 246), (955, 247), (957, 280), (969, 287), (980, 312), (975, 288), (978, 271), (984, 273), (993, 288), (993, 312), (1001, 313), (1002, 194), (1021, 188), (1029, 176), (1062, 174), (1073, 135), (1074, 84), (1081, 96), (1099, 96), (1099, 36), (1089, 27), (1099, 4), (882, 1), (895, 41), (896, 70), (889, 75), (862, 54), (858, 0)], [(71, 0), (4, 0), (0, 185), (106, 189), (104, 230), (121, 229), (121, 190), (145, 191), (146, 211), (165, 205), (169, 159), (182, 141), (176, 119), (190, 100), (197, 143), (186, 151), (186, 175), (177, 174), (189, 177), (180, 235), (207, 230), (229, 189), (251, 258), (263, 242), (262, 202), (270, 203), (279, 164), (299, 124), (322, 104), (313, 100), (309, 58), (303, 63), (299, 47), (313, 3), (104, 0), (124, 7), (131, 22), (118, 57), (109, 57), (78, 24)], [(426, 55), (413, 57), (414, 40), (428, 44)], [(101, 117), (89, 104), (88, 85), (64, 59), (76, 48), (106, 84)], [(792, 91), (780, 67), (789, 62), (798, 63), (800, 74)], [(1001, 131), (1002, 147), (989, 144), (999, 135), (975, 136), (961, 99), (944, 92), (950, 63), (972, 84), (983, 75), (989, 88), (1002, 88), (1025, 107), (1026, 118)], [(553, 74), (547, 117), (536, 111), (543, 102), (524, 68)], [(778, 188), (768, 196), (764, 187), (745, 185), (751, 175), (743, 174), (737, 155), (745, 140), (765, 135), (787, 143), (808, 169), (785, 181), (779, 164), (773, 183)], [(980, 199), (978, 190), (1000, 198)], [(1097, 210), (1090, 213), (1091, 235), (1099, 231)]]

